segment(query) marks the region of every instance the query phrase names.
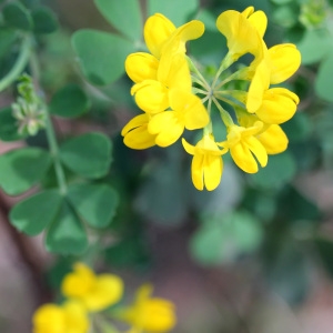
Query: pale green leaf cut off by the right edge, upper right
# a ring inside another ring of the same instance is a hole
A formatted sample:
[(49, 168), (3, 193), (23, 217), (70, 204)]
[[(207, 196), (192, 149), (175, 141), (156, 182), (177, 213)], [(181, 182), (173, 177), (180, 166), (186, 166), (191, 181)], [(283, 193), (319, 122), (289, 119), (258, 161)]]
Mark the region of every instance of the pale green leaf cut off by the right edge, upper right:
[(321, 63), (314, 82), (314, 88), (317, 95), (331, 103), (333, 102), (332, 78), (333, 52), (331, 52), (331, 54), (327, 58), (325, 58), (325, 60)]

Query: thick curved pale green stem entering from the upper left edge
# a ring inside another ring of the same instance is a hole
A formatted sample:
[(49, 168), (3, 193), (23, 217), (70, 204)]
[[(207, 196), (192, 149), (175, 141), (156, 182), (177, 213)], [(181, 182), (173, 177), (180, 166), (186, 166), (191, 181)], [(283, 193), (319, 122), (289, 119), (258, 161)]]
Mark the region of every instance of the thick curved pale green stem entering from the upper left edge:
[(31, 53), (31, 46), (32, 46), (32, 38), (30, 36), (26, 36), (22, 41), (21, 50), (16, 63), (13, 64), (11, 70), (7, 73), (7, 75), (0, 80), (0, 91), (4, 90), (7, 87), (12, 84), (18, 79), (18, 77), (22, 73), (22, 71), (24, 70), (29, 61), (29, 57)]

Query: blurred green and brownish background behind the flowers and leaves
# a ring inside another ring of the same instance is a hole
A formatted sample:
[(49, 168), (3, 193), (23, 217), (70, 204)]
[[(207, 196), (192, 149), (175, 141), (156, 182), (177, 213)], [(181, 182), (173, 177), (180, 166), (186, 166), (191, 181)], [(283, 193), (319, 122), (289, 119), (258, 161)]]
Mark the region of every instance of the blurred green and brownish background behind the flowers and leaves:
[[(176, 305), (175, 333), (332, 333), (333, 1), (206, 0), (199, 10), (191, 0), (172, 4), (173, 11), (193, 7), (189, 19), (205, 22), (203, 40), (191, 42), (189, 51), (208, 72), (225, 52), (214, 21), (226, 9), (264, 10), (268, 47), (292, 42), (302, 52), (302, 67), (287, 82), (301, 99), (295, 117), (282, 125), (287, 151), (270, 157), (256, 174), (244, 174), (226, 158), (221, 185), (213, 192), (193, 188), (191, 157), (180, 143), (145, 151), (123, 144), (120, 131), (138, 114), (129, 92), (132, 83), (125, 75), (103, 87), (89, 83), (71, 47), (71, 36), (80, 29), (117, 33), (94, 2), (41, 2), (60, 22), (39, 40), (47, 99), (73, 82), (91, 101), (84, 117), (54, 118), (58, 137), (95, 130), (113, 142), (113, 162), (102, 181), (118, 190), (120, 206), (109, 228), (89, 234), (92, 245), (82, 259), (97, 271), (121, 275), (129, 295), (152, 282), (157, 296)], [(141, 4), (145, 12), (147, 3)], [(3, 75), (8, 59), (0, 56)], [(12, 91), (2, 92), (0, 107), (11, 102)], [(26, 144), (44, 147), (44, 133), (0, 141), (0, 153)], [(50, 175), (46, 185), (52, 183)], [(0, 192), (3, 333), (31, 332), (33, 311), (57, 299), (61, 278), (78, 260), (48, 253), (43, 235), (29, 238), (11, 226), (11, 206), (28, 194)]]

